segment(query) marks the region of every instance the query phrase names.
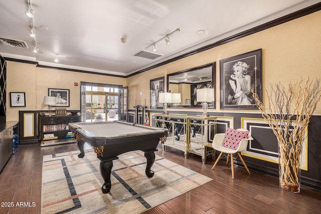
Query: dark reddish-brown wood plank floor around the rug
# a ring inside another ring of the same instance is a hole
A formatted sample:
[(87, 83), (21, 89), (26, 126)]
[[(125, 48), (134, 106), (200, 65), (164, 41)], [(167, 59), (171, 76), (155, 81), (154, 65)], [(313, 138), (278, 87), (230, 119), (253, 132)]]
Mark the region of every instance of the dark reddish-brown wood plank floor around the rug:
[[(0, 213), (41, 213), (43, 155), (74, 150), (78, 150), (76, 143), (21, 145), (0, 174)], [(181, 152), (163, 151), (162, 147), (156, 154), (213, 180), (145, 213), (321, 213), (321, 192), (301, 187), (300, 193), (290, 193), (278, 187), (277, 178), (255, 171), (248, 174), (237, 166), (233, 180), (230, 165), (224, 161), (211, 170), (211, 159), (202, 164), (197, 155), (185, 159)], [(14, 206), (6, 202), (14, 202)], [(17, 206), (17, 202), (25, 204)]]

